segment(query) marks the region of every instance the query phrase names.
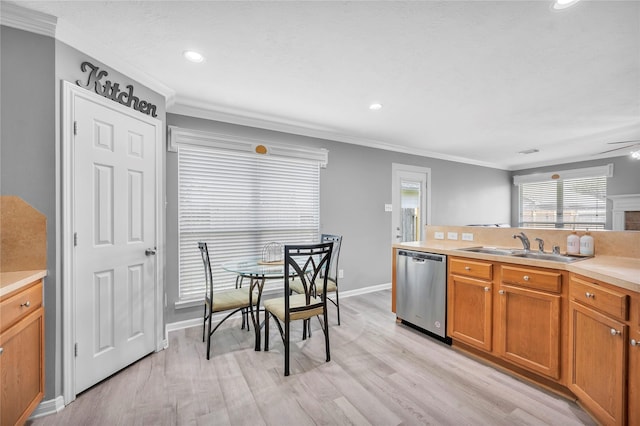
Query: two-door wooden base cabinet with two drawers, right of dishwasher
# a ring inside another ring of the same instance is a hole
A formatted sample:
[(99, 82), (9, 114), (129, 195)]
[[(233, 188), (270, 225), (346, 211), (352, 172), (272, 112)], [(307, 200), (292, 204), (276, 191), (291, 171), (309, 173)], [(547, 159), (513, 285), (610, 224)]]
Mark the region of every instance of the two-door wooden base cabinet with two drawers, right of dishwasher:
[(564, 274), (552, 269), (450, 258), (449, 336), (558, 381)]

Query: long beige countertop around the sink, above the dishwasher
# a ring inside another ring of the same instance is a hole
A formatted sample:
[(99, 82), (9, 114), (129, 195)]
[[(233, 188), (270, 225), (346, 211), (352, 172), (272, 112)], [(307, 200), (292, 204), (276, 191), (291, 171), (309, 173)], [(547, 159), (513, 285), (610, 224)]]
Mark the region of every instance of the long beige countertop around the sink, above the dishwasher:
[[(482, 244), (477, 242), (465, 243), (461, 241), (443, 240), (396, 243), (393, 244), (393, 247), (407, 250), (429, 251), (449, 256), (460, 256), (472, 259), (537, 266), (541, 268), (560, 269), (603, 281), (625, 290), (640, 293), (640, 259), (638, 258), (596, 255), (592, 258), (580, 260), (574, 263), (561, 263), (549, 260), (526, 259), (459, 250), (461, 248), (477, 247), (479, 245)], [(519, 249), (522, 247), (512, 246), (511, 248)]]

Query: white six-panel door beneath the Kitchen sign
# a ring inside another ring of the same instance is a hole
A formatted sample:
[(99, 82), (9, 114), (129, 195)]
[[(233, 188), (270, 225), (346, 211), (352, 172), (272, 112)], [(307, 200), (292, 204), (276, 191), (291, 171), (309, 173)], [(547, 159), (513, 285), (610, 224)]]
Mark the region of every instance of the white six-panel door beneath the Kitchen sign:
[(156, 128), (74, 101), (75, 392), (156, 349)]

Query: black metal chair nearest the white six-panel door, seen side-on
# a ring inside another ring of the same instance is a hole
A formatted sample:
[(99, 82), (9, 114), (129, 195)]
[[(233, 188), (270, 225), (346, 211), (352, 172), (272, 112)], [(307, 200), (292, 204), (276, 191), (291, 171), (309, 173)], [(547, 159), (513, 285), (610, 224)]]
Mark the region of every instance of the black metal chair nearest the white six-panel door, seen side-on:
[[(231, 290), (213, 291), (213, 275), (211, 273), (211, 260), (209, 257), (209, 248), (207, 243), (199, 242), (198, 248), (202, 255), (202, 263), (204, 265), (204, 276), (206, 282), (205, 298), (204, 298), (204, 322), (202, 326), (202, 341), (207, 336), (207, 359), (211, 354), (211, 336), (224, 323), (227, 318), (236, 312), (242, 312), (243, 326), (245, 323), (246, 312), (251, 305), (255, 305), (257, 297), (250, 297), (248, 287), (240, 287)], [(230, 311), (216, 326), (212, 329), (213, 314), (217, 312)], [(249, 329), (247, 323), (247, 330)]]

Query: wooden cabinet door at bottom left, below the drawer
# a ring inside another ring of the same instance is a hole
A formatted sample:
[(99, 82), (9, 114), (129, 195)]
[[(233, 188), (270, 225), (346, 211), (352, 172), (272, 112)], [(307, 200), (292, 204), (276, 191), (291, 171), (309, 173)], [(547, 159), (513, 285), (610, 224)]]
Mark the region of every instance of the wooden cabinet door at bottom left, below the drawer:
[(44, 396), (44, 308), (0, 335), (0, 424), (24, 424)]

